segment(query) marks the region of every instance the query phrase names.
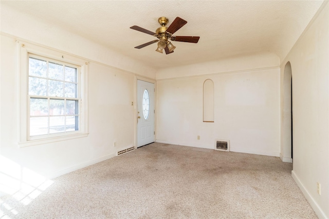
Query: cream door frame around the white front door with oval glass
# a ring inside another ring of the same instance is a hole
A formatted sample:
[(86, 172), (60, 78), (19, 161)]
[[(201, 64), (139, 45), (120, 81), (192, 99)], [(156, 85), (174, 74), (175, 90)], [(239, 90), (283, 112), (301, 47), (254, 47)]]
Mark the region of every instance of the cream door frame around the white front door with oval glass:
[(135, 104), (134, 104), (134, 108), (135, 108), (135, 149), (137, 149), (137, 80), (140, 80), (140, 81), (144, 81), (144, 82), (149, 82), (149, 83), (152, 83), (154, 84), (154, 110), (155, 110), (155, 113), (154, 113), (154, 141), (156, 141), (156, 134), (157, 134), (157, 130), (156, 130), (156, 121), (157, 121), (157, 103), (156, 103), (156, 97), (157, 97), (157, 89), (156, 89), (156, 81), (155, 79), (151, 79), (151, 78), (148, 78), (148, 77), (142, 77), (142, 76), (139, 76), (139, 75), (136, 75), (135, 77)]

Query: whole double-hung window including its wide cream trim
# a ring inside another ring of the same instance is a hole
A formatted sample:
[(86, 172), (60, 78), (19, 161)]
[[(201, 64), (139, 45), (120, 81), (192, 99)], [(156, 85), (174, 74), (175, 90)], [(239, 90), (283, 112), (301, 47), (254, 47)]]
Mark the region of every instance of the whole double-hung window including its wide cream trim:
[(20, 47), (20, 147), (87, 136), (87, 64), (31, 44)]

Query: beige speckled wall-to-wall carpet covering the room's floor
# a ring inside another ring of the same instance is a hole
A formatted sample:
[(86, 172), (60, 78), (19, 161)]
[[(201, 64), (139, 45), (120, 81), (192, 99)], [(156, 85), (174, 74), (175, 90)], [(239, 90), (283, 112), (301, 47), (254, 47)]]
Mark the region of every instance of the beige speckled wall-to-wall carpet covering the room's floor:
[[(317, 218), (278, 157), (154, 143), (55, 178), (10, 218)], [(3, 205), (2, 205), (3, 206)]]

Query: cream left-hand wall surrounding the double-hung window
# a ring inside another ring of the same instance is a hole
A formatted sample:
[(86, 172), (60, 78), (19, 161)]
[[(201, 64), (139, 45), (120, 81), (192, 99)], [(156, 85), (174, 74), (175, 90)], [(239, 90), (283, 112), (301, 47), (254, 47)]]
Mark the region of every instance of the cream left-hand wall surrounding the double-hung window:
[[(54, 177), (100, 162), (114, 156), (117, 150), (135, 145), (135, 105), (131, 103), (135, 102), (136, 75), (155, 78), (152, 68), (10, 8), (2, 7), (1, 13), (0, 178), (6, 184), (1, 182), (0, 196), (21, 188), (26, 181), (23, 172), (27, 170)], [(17, 144), (16, 39), (89, 62), (87, 137), (24, 148)]]

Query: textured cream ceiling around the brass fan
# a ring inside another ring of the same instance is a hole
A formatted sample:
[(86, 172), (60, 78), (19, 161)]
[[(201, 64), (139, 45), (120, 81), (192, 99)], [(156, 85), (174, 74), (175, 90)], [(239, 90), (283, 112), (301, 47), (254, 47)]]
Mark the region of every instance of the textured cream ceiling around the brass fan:
[[(272, 52), (282, 60), (323, 1), (1, 1), (22, 13), (61, 26), (154, 68)], [(188, 23), (174, 35), (200, 36), (197, 44), (174, 42), (175, 52), (155, 51), (157, 19)]]

